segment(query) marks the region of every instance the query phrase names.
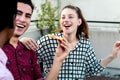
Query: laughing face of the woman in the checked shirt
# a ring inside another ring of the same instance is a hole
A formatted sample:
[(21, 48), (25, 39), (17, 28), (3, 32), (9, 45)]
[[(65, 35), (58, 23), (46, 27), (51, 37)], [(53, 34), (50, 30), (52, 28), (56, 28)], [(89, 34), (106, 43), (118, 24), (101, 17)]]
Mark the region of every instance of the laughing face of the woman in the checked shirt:
[(81, 19), (74, 9), (65, 8), (61, 12), (60, 27), (64, 34), (75, 34), (77, 32), (78, 25), (81, 24)]

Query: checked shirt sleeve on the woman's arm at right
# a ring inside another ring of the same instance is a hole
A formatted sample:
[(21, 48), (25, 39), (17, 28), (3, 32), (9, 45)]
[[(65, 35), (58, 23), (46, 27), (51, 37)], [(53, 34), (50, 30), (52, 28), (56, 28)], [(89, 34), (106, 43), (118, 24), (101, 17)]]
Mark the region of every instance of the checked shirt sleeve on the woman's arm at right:
[(100, 65), (101, 60), (97, 60), (95, 56), (95, 51), (89, 42), (88, 49), (86, 52), (86, 73), (87, 76), (94, 76), (104, 70), (104, 67)]

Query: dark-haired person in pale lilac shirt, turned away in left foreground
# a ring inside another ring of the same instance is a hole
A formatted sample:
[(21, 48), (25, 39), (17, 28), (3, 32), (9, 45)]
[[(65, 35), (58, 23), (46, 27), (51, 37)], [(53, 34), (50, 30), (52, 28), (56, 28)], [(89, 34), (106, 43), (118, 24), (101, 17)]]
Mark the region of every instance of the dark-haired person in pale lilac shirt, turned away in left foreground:
[(3, 0), (0, 2), (0, 80), (14, 80), (12, 74), (6, 68), (7, 56), (1, 47), (8, 42), (13, 34), (13, 19), (15, 18), (16, 9), (17, 0)]

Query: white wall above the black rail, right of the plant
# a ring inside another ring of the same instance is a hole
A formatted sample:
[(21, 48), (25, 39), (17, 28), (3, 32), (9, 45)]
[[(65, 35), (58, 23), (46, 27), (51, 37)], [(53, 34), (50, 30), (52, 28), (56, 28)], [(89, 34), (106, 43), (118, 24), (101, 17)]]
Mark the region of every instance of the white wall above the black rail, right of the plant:
[(60, 0), (79, 6), (87, 20), (120, 21), (120, 0)]

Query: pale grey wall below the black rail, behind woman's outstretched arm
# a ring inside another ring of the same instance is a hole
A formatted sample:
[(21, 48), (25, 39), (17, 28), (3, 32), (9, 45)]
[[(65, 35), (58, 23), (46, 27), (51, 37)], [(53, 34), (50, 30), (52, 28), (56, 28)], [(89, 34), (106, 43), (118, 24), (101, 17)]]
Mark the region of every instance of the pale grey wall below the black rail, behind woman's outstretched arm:
[[(114, 42), (120, 40), (120, 33), (114, 31), (90, 30), (90, 39), (97, 58), (102, 59), (112, 53)], [(107, 67), (120, 69), (120, 57), (113, 60)]]

